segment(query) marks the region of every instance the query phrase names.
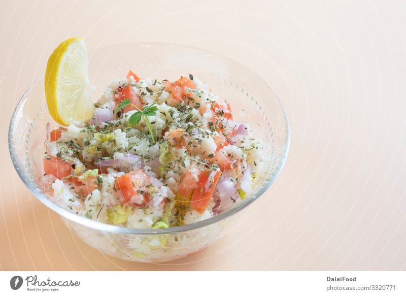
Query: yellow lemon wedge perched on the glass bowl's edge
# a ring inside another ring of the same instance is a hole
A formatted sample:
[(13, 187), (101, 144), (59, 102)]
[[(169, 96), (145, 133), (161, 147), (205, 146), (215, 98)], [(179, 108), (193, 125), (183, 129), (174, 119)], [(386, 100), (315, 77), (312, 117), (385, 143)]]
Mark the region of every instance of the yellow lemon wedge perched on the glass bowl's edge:
[(83, 38), (70, 38), (55, 48), (45, 72), (45, 96), (52, 118), (62, 124), (87, 122), (94, 105), (89, 96), (88, 58)]

